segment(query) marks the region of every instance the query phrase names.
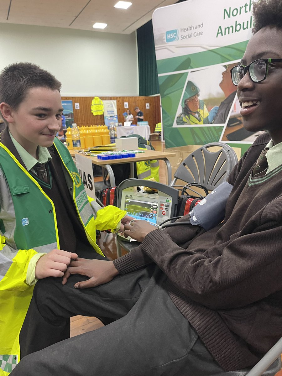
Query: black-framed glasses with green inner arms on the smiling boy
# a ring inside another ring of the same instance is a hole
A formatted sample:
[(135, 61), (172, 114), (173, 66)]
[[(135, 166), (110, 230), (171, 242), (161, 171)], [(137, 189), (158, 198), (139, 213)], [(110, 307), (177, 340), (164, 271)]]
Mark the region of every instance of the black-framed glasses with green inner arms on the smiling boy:
[(253, 82), (261, 82), (265, 80), (268, 72), (268, 65), (271, 62), (282, 63), (282, 59), (258, 59), (252, 61), (247, 67), (244, 67), (244, 65), (236, 65), (230, 70), (233, 85), (237, 86), (247, 72), (249, 72), (250, 78)]

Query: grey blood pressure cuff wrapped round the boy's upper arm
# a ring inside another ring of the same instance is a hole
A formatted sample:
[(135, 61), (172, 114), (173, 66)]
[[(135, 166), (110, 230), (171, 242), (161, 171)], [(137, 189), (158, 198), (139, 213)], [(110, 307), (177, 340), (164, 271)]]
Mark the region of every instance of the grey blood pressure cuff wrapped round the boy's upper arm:
[(233, 185), (223, 182), (201, 200), (190, 214), (190, 223), (199, 224), (206, 231), (224, 220), (225, 206)]

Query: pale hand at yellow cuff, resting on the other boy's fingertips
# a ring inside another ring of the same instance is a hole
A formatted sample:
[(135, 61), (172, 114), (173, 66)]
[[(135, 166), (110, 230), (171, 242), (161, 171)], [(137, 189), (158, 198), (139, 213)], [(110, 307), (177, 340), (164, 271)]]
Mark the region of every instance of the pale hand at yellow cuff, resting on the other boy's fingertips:
[(52, 249), (47, 255), (42, 256), (36, 262), (35, 278), (62, 277), (67, 270), (71, 259), (77, 258), (76, 253)]

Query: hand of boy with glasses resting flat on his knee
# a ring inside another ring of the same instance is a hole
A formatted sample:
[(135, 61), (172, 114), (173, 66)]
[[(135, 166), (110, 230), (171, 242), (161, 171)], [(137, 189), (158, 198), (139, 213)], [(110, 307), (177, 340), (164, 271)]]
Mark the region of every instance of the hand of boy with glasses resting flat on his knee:
[(103, 285), (117, 276), (118, 270), (112, 261), (104, 260), (88, 260), (77, 258), (70, 262), (69, 267), (65, 271), (63, 285), (67, 283), (71, 274), (81, 274), (88, 276), (90, 279), (77, 282), (75, 288), (88, 288)]

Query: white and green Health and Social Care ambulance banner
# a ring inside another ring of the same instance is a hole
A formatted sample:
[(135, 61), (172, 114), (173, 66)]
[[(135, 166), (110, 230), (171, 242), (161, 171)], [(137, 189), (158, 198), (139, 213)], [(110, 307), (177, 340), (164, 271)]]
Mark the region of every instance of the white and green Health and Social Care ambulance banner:
[(244, 129), (230, 69), (252, 35), (251, 0), (188, 0), (153, 13), (166, 147), (223, 141), (242, 153)]

